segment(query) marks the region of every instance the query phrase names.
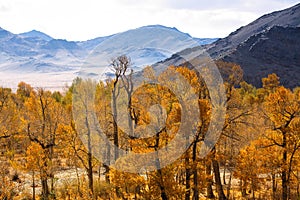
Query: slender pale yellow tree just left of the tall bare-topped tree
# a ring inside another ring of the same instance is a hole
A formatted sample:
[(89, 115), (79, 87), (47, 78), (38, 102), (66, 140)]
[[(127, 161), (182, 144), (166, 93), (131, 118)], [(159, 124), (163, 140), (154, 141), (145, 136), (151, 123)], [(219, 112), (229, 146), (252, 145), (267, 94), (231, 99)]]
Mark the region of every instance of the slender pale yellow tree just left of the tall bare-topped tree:
[[(87, 171), (89, 190), (93, 193), (94, 178), (93, 178), (93, 153), (95, 150), (93, 143), (93, 133), (95, 131), (94, 123), (96, 120), (94, 112), (95, 100), (95, 81), (91, 79), (83, 80), (76, 79), (74, 81), (73, 90), (73, 117), (76, 125), (76, 137), (73, 140), (73, 150), (80, 159), (84, 168)], [(85, 144), (85, 148), (78, 144), (78, 139), (81, 139)]]

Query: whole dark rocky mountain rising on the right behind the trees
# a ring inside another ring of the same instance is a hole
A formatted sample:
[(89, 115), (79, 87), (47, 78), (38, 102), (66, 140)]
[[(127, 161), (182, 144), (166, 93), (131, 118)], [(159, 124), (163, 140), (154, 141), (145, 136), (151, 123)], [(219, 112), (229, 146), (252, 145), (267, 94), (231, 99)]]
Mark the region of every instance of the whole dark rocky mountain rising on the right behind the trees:
[[(270, 73), (276, 73), (286, 87), (299, 86), (300, 4), (264, 15), (204, 49), (213, 60), (241, 65), (244, 79), (255, 86), (261, 86), (261, 78)], [(197, 47), (185, 49), (163, 64), (180, 65), (185, 60), (179, 55), (197, 50)]]

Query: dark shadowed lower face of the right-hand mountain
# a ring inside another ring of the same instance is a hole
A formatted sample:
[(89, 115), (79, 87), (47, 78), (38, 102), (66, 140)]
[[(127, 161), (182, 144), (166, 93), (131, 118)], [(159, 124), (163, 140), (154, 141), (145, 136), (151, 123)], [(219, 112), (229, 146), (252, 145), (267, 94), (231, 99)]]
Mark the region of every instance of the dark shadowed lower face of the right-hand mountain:
[(286, 87), (299, 86), (300, 27), (272, 28), (251, 36), (222, 58), (244, 70), (244, 79), (261, 86), (261, 78), (276, 73)]

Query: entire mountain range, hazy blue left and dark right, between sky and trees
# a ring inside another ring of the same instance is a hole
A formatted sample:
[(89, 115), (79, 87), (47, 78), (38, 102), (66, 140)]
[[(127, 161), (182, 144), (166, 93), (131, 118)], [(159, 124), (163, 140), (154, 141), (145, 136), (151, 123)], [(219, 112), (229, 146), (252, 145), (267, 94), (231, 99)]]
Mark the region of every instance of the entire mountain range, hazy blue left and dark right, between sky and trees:
[(197, 49), (214, 60), (239, 64), (244, 79), (255, 86), (261, 86), (261, 78), (270, 73), (276, 73), (284, 86), (298, 86), (300, 4), (266, 14), (222, 39), (193, 38), (161, 25), (88, 41), (54, 39), (36, 30), (13, 34), (0, 28), (0, 85), (15, 88), (25, 81), (61, 88), (78, 75), (108, 74), (110, 59), (121, 54), (128, 55), (138, 71), (157, 62), (180, 65), (185, 61), (179, 55)]

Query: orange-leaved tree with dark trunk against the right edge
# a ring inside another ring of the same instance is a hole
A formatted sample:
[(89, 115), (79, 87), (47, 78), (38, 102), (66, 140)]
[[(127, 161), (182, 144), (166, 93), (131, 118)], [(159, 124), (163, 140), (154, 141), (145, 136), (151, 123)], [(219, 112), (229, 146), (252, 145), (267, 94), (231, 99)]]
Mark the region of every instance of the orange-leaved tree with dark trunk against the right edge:
[(281, 148), (282, 199), (289, 198), (290, 181), (295, 154), (299, 143), (299, 94), (284, 87), (278, 87), (267, 97), (264, 104), (270, 130), (266, 137), (269, 146)]

